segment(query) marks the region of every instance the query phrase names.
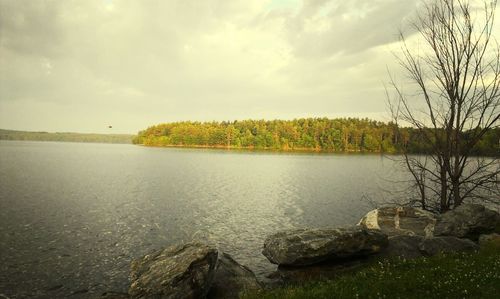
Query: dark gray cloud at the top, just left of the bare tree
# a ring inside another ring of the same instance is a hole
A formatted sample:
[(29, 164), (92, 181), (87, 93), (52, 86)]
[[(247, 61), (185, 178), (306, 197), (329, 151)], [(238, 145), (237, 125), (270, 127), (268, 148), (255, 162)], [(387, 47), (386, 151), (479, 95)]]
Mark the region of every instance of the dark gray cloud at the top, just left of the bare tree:
[(296, 54), (314, 58), (358, 53), (396, 41), (399, 28), (417, 6), (415, 0), (308, 3), (288, 21), (288, 29)]

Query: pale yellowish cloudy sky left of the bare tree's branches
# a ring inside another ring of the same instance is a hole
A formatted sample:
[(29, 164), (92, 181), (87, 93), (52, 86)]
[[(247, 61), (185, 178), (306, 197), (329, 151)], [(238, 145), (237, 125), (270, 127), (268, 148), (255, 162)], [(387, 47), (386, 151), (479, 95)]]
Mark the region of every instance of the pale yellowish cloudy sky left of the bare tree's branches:
[(417, 0), (0, 0), (0, 128), (387, 119)]

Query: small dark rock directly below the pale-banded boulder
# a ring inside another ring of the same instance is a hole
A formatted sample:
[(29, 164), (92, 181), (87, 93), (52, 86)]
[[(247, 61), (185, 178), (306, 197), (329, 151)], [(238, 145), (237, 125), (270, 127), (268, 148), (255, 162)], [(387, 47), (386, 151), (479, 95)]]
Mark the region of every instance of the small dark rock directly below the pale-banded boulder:
[(389, 245), (381, 253), (382, 257), (402, 257), (406, 259), (422, 256), (419, 245), (424, 241), (422, 236), (392, 236)]

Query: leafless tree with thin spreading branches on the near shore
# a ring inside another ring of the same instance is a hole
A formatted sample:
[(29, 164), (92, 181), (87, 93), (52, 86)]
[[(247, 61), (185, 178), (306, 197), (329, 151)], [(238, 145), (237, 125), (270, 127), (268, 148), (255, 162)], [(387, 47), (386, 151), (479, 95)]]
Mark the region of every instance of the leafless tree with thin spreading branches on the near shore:
[(393, 120), (429, 149), (404, 154), (417, 194), (411, 204), (441, 213), (465, 200), (500, 203), (498, 154), (474, 157), (500, 117), (500, 48), (492, 35), (497, 0), (478, 2), (423, 3), (411, 24), (420, 42), (401, 33), (397, 55), (410, 90), (391, 76)]

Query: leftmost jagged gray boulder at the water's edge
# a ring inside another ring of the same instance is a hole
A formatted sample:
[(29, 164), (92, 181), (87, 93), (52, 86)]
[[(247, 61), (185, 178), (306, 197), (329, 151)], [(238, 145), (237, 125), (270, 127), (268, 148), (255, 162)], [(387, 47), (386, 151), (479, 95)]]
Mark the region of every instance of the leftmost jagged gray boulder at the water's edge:
[(215, 277), (218, 250), (201, 243), (168, 247), (132, 262), (132, 298), (204, 298)]

